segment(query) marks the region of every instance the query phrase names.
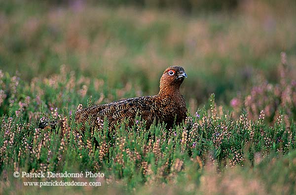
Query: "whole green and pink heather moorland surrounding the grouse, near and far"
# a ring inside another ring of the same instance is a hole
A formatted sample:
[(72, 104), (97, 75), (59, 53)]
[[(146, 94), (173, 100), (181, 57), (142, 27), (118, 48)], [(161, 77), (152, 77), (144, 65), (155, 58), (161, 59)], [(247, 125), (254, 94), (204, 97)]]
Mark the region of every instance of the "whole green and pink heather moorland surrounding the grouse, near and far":
[[(295, 12), (275, 4), (186, 15), (0, 1), (0, 194), (296, 194)], [(188, 75), (183, 125), (72, 122), (79, 104), (156, 94), (172, 64)], [(38, 129), (40, 117), (66, 122)], [(23, 182), (46, 178), (15, 171), (105, 177), (39, 188)]]

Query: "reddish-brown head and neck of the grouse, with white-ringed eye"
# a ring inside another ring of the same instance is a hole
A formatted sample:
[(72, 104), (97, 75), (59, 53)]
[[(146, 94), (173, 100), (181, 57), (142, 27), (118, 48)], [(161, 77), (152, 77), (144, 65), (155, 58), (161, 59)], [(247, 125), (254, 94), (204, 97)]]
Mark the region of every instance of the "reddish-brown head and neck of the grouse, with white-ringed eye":
[(167, 68), (160, 78), (159, 92), (179, 91), (184, 78), (187, 78), (187, 75), (181, 66)]

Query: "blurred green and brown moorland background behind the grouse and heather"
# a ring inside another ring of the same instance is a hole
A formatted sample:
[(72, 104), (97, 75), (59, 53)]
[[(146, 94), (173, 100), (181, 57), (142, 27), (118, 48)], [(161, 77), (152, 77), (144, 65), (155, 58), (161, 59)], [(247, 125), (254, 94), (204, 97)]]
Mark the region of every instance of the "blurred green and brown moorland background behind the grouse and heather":
[(295, 10), (295, 0), (0, 0), (0, 69), (30, 82), (65, 65), (152, 95), (181, 65), (191, 110), (211, 93), (229, 105), (258, 76), (278, 82), (281, 51), (296, 64)]

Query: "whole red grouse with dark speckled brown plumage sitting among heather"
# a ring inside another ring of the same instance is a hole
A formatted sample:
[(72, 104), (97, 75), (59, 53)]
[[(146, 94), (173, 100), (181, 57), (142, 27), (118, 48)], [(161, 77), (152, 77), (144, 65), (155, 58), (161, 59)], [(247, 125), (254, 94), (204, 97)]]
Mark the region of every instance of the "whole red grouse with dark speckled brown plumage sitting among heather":
[(154, 118), (157, 122), (166, 123), (167, 128), (171, 128), (174, 122), (179, 124), (186, 117), (186, 103), (180, 92), (184, 78), (187, 78), (187, 75), (182, 67), (171, 66), (160, 78), (160, 90), (157, 95), (123, 99), (78, 109), (75, 121), (82, 123), (82, 129), (85, 129), (86, 121), (91, 128), (99, 129), (104, 118), (107, 118), (109, 128), (116, 129), (122, 121), (132, 126), (138, 116), (146, 122), (146, 128), (150, 127)]

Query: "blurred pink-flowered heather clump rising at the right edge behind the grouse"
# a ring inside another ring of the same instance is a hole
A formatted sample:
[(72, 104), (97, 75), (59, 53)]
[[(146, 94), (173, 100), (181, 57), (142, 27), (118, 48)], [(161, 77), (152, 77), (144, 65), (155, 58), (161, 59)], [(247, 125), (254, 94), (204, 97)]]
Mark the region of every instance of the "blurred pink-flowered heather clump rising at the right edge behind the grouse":
[(281, 115), (290, 126), (291, 119), (296, 117), (296, 80), (290, 73), (292, 66), (287, 62), (285, 52), (281, 53), (281, 63), (278, 67), (279, 82), (271, 83), (264, 77), (259, 77), (258, 83), (252, 87), (246, 97), (236, 97), (230, 102), (235, 111), (244, 104), (250, 118), (255, 119), (264, 113), (268, 122), (275, 123)]

